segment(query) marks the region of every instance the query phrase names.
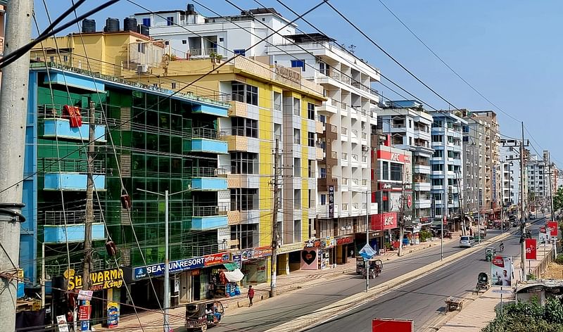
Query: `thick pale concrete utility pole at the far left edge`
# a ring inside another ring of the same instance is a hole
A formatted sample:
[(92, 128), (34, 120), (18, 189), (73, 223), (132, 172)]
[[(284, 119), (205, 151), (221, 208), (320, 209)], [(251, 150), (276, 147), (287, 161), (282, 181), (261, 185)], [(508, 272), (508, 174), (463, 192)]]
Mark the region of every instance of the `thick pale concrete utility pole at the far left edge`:
[[(30, 41), (32, 0), (8, 2), (6, 48), (11, 54)], [(0, 331), (15, 331), (15, 307), (18, 281), (9, 275), (17, 273), (20, 256), (20, 222), (23, 192), (25, 127), (27, 118), (27, 84), (30, 52), (2, 70), (0, 89)], [(8, 275), (9, 274), (9, 275)]]

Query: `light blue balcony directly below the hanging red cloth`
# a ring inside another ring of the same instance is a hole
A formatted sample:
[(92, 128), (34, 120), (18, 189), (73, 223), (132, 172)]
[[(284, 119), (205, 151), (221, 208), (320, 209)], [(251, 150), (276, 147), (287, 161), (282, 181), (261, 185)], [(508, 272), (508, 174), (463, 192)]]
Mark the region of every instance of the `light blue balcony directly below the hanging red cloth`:
[[(43, 136), (88, 141), (89, 124), (82, 123), (80, 127), (70, 127), (69, 122), (68, 119), (45, 119)], [(97, 142), (106, 142), (106, 126), (96, 125), (94, 134)]]

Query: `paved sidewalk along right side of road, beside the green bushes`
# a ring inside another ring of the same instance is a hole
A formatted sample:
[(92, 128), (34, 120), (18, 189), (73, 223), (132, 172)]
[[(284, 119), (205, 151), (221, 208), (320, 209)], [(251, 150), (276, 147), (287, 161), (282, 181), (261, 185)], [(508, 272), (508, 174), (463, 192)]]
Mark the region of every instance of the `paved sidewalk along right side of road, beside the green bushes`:
[[(541, 269), (545, 269), (543, 263), (544, 257), (550, 254), (551, 245), (540, 246), (538, 248), (538, 259), (531, 262), (530, 267), (526, 267), (526, 273), (531, 272), (536, 276), (539, 275)], [(520, 256), (514, 261), (514, 279), (516, 283), (521, 280)], [(514, 283), (514, 282), (513, 282)], [(516, 286), (512, 286), (512, 291)], [(514, 300), (514, 295), (502, 295), (502, 302), (508, 303)], [(489, 288), (485, 293), (473, 300), (469, 305), (464, 303), (464, 307), (460, 312), (453, 312), (452, 318), (444, 324), (439, 332), (480, 332), (482, 328), (488, 325), (496, 317), (495, 308), (500, 307), (500, 293), (494, 293), (494, 288)]]

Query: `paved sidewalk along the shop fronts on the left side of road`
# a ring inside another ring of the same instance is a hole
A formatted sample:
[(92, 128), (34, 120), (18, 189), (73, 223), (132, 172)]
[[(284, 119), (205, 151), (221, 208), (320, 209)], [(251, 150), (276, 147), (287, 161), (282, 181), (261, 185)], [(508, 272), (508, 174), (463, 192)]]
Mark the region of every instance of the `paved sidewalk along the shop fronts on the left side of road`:
[[(459, 241), (459, 234), (454, 234), (453, 237), (445, 238), (444, 244), (450, 243), (452, 241)], [(404, 249), (404, 255), (410, 255), (419, 250), (424, 250), (426, 248), (436, 247), (440, 245), (440, 239), (434, 239), (431, 242), (420, 243), (418, 245), (407, 245)], [(378, 256), (379, 259), (385, 260), (386, 262), (397, 260), (397, 251), (388, 251), (383, 255)], [(350, 259), (346, 264), (338, 264), (334, 268), (324, 269), (324, 270), (298, 270), (291, 272), (288, 275), (277, 276), (276, 282), (276, 293), (287, 293), (298, 288), (303, 288), (309, 286), (313, 283), (319, 283), (320, 279), (334, 279), (343, 274), (355, 273), (356, 260)], [(262, 300), (270, 298), (270, 283), (260, 283), (253, 286), (255, 289), (254, 304), (256, 305)], [(232, 314), (239, 307), (247, 307), (248, 299), (246, 298), (247, 289), (241, 289), (241, 295), (237, 295), (231, 298), (217, 298), (220, 300), (225, 308), (227, 314)], [(203, 301), (199, 301), (203, 302)], [(179, 326), (184, 326), (184, 315), (185, 309), (184, 305), (181, 307), (173, 308), (169, 310), (170, 315), (170, 325), (172, 328), (177, 328)], [(151, 312), (139, 312), (139, 319), (141, 324), (144, 326), (145, 331), (162, 331), (163, 324), (163, 314), (159, 310)], [(120, 317), (120, 322), (118, 328), (120, 330), (127, 331), (139, 331), (139, 319), (135, 314), (127, 315), (127, 317)], [(102, 328), (100, 325), (94, 326), (96, 331), (110, 331), (108, 328)]]

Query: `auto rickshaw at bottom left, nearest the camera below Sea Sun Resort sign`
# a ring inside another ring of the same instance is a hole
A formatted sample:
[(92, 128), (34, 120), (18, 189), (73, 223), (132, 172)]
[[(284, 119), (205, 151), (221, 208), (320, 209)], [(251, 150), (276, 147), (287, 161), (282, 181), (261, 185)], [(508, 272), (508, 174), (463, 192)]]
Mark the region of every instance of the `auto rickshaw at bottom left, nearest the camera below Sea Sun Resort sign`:
[(207, 331), (208, 327), (217, 326), (224, 314), (220, 301), (213, 300), (186, 305), (186, 330)]

